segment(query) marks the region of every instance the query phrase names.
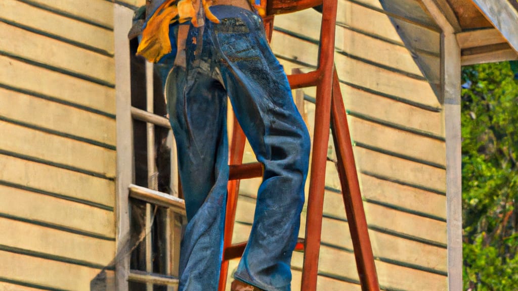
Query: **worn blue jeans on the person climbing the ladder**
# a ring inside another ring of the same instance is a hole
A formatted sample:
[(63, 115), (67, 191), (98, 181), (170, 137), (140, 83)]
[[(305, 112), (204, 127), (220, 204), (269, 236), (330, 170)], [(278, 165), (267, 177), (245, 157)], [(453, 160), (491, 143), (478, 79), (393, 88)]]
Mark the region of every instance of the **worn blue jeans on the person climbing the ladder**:
[(186, 68), (174, 67), (165, 83), (188, 218), (179, 290), (218, 289), (228, 182), (227, 95), (264, 164), (250, 238), (235, 277), (269, 291), (290, 290), (308, 131), (261, 18), (233, 6), (211, 11), (220, 24), (206, 20), (204, 27), (190, 27)]

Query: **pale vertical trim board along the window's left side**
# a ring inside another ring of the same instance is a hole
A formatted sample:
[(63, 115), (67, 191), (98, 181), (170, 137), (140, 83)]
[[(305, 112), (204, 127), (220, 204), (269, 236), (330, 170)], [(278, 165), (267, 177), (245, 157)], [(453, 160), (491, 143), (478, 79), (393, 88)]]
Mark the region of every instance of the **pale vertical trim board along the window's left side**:
[(133, 141), (131, 117), (130, 41), (127, 32), (131, 28), (133, 10), (113, 5), (115, 38), (115, 80), (117, 104), (117, 178), (116, 178), (116, 221), (117, 221), (117, 290), (128, 289), (130, 267), (130, 216), (128, 214), (128, 185), (133, 179)]

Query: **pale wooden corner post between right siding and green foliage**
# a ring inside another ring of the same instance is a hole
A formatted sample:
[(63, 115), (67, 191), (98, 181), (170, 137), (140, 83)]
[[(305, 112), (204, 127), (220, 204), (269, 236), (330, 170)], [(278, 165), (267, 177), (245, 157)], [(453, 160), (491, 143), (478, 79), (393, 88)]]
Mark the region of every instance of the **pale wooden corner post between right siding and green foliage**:
[(448, 288), (462, 290), (461, 47), (434, 0), (422, 0), (442, 29), (441, 95), (446, 137)]

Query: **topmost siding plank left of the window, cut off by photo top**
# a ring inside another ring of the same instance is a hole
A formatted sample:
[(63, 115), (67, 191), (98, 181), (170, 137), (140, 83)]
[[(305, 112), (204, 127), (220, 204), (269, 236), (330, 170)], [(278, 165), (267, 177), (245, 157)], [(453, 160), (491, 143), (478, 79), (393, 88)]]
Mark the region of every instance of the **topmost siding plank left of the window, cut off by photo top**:
[(113, 27), (113, 3), (106, 0), (22, 0), (72, 17)]

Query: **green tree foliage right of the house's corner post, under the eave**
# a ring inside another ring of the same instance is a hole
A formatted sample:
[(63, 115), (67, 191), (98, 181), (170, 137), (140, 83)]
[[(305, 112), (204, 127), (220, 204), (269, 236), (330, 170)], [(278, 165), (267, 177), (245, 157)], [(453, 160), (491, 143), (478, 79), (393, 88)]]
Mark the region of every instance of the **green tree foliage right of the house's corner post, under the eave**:
[(464, 290), (518, 290), (518, 81), (509, 62), (462, 71)]

